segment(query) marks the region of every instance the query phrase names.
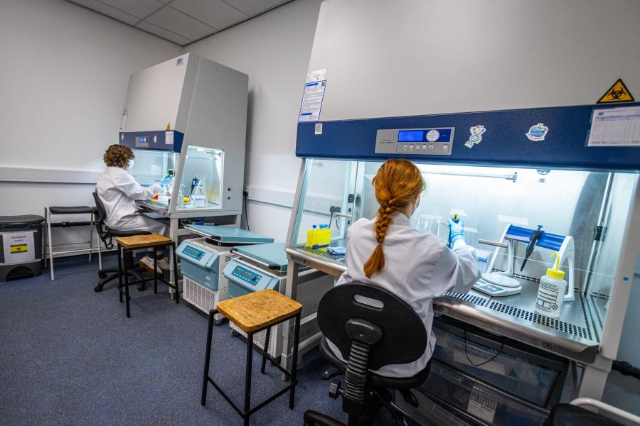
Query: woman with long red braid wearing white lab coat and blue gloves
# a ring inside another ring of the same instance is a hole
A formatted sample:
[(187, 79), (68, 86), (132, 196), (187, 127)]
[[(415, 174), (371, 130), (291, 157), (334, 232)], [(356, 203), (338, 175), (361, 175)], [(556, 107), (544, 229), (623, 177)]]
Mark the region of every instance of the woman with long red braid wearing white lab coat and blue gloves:
[[(388, 160), (373, 179), (380, 203), (375, 219), (359, 219), (347, 231), (346, 272), (336, 285), (352, 281), (378, 285), (407, 302), (425, 324), (429, 341), (422, 356), (409, 364), (387, 365), (375, 373), (411, 377), (431, 359), (435, 345), (432, 332), (434, 297), (449, 290), (467, 293), (480, 277), (476, 254), (464, 239), (462, 219), (449, 220), (453, 248), (433, 234), (420, 234), (410, 217), (420, 203), (425, 181), (420, 170), (407, 160)], [(336, 356), (345, 359), (329, 342)]]

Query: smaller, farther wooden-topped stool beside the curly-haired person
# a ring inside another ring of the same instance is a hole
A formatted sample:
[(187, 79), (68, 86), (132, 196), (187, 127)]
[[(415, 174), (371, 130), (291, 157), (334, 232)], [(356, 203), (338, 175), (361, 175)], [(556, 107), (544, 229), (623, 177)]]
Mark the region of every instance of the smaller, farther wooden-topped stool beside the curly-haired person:
[[(166, 246), (171, 246), (171, 256), (174, 257), (174, 265), (177, 265), (176, 262), (176, 245), (174, 241), (167, 238), (164, 235), (159, 234), (147, 234), (147, 235), (134, 235), (134, 236), (119, 236), (116, 238), (118, 243), (118, 295), (120, 298), (120, 303), (122, 303), (122, 295), (124, 293), (124, 300), (127, 305), (127, 318), (131, 317), (131, 310), (129, 308), (129, 285), (133, 284), (142, 284), (147, 281), (154, 280), (154, 293), (158, 293), (158, 280), (161, 280), (163, 283), (168, 285), (170, 288), (176, 290), (176, 303), (180, 301), (180, 292), (178, 291), (178, 272), (177, 268), (174, 268), (174, 283), (171, 284), (171, 277), (169, 277), (169, 281), (166, 281), (164, 278), (158, 278), (156, 274), (156, 270), (158, 268), (158, 259), (154, 256), (154, 272), (153, 278), (143, 278), (141, 280), (135, 280), (129, 282), (129, 274), (127, 273), (127, 268), (133, 267), (133, 265), (127, 265), (126, 261), (122, 261), (125, 258), (125, 255), (128, 251), (133, 251), (137, 249), (164, 249)], [(155, 255), (155, 253), (154, 253)], [(122, 283), (122, 276), (124, 275), (124, 283)], [(124, 290), (123, 290), (124, 288)]]

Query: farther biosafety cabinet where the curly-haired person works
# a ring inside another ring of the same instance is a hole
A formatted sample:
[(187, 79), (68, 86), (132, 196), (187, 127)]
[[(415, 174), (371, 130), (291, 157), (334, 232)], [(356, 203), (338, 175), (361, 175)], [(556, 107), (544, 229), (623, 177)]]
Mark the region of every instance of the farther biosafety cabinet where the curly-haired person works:
[(247, 75), (193, 53), (129, 78), (119, 143), (133, 149), (131, 173), (141, 185), (173, 176), (155, 200), (140, 203), (171, 219), (172, 234), (180, 218), (239, 222), (247, 90)]

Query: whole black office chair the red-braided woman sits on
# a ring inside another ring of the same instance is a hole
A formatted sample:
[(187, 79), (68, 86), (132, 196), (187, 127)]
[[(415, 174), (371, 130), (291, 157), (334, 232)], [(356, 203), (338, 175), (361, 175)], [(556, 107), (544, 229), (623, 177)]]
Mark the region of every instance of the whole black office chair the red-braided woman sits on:
[[(420, 386), (429, 376), (431, 362), (409, 378), (390, 378), (372, 373), (388, 364), (407, 364), (425, 353), (427, 330), (410, 305), (387, 290), (362, 283), (349, 283), (332, 288), (318, 306), (318, 325), (324, 338), (320, 350), (338, 370), (345, 371), (344, 386), (334, 379), (329, 396), (342, 395), (342, 409), (348, 414), (348, 426), (370, 425), (381, 407), (390, 410), (397, 425), (404, 418), (393, 402), (391, 391), (417, 407), (410, 389)], [(326, 342), (333, 342), (345, 363), (338, 359)], [(337, 420), (307, 410), (305, 426), (344, 426)]]

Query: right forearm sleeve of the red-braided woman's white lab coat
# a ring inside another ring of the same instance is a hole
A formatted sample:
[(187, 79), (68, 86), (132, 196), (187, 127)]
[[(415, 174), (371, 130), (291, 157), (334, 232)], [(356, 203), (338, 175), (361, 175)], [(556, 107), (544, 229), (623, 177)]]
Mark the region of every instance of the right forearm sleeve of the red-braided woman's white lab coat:
[(444, 247), (432, 275), (432, 297), (440, 297), (447, 291), (467, 293), (479, 279), (473, 247), (464, 243), (454, 244), (451, 250)]

